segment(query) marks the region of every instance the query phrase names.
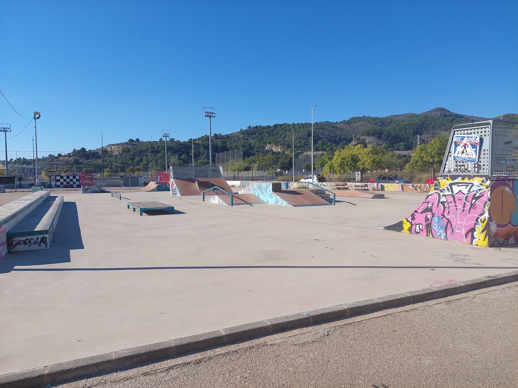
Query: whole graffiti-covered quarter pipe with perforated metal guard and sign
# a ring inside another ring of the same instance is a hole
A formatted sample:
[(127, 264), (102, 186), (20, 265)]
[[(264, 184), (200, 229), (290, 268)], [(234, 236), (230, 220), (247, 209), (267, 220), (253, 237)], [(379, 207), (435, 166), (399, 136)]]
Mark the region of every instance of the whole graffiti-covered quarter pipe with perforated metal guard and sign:
[(518, 242), (518, 123), (454, 126), (441, 175), (415, 211), (384, 229), (484, 247)]

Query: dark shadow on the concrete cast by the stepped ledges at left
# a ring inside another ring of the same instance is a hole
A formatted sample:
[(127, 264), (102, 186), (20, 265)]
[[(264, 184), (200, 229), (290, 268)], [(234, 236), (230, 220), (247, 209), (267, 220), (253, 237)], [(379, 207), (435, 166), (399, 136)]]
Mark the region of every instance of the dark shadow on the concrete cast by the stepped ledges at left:
[(70, 250), (83, 248), (77, 205), (63, 202), (50, 248), (7, 253), (0, 260), (0, 273), (11, 272), (15, 266), (69, 263)]

